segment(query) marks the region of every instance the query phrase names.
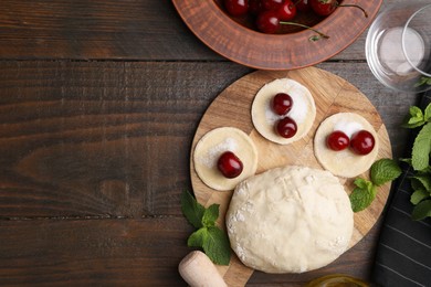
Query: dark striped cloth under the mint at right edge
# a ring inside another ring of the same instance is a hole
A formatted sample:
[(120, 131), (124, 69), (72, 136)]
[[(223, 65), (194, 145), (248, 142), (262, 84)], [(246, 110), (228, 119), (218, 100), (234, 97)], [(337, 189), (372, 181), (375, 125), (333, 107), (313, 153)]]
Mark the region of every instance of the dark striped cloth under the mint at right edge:
[[(429, 103), (431, 92), (423, 95), (420, 107), (424, 109)], [(406, 157), (411, 157), (411, 147)], [(387, 206), (371, 278), (379, 286), (431, 286), (431, 220), (410, 217), (413, 210), (410, 176), (411, 170), (404, 164)]]

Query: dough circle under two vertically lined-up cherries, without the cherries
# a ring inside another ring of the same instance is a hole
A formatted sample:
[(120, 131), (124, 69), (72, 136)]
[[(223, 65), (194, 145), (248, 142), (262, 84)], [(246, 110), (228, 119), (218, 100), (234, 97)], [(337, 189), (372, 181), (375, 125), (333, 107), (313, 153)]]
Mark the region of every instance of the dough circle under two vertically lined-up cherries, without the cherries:
[[(271, 102), (277, 93), (286, 93), (292, 97), (293, 106), (287, 116), (297, 125), (297, 132), (292, 138), (283, 138), (275, 131), (278, 116), (271, 108)], [(255, 95), (252, 104), (252, 121), (255, 129), (267, 140), (287, 145), (303, 138), (312, 128), (316, 117), (316, 105), (309, 91), (291, 78), (277, 78), (265, 84)]]

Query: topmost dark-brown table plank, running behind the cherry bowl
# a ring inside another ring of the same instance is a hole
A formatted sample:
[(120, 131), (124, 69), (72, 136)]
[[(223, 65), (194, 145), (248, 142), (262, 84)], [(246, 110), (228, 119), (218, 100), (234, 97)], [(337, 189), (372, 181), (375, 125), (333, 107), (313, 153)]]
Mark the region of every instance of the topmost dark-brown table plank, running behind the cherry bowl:
[[(402, 0), (385, 0), (383, 6)], [(366, 32), (332, 60), (365, 60)], [(169, 0), (3, 0), (1, 59), (225, 61)]]

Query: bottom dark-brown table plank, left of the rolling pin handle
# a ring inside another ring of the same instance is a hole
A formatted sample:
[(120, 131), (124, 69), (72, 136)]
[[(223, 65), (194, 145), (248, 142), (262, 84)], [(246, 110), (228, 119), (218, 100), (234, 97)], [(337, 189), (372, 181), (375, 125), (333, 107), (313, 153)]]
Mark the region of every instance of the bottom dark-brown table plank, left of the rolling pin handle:
[(178, 286), (190, 251), (183, 217), (0, 221), (0, 228), (1, 286)]

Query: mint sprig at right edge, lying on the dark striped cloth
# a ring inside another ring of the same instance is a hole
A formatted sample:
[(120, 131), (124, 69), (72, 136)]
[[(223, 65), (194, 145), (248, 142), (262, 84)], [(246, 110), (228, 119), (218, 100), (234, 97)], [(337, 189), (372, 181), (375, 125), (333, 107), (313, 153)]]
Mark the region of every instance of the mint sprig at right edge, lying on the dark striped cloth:
[(414, 205), (411, 219), (423, 220), (431, 217), (431, 104), (423, 111), (419, 107), (410, 107), (406, 120), (411, 124), (403, 125), (404, 127), (420, 128), (414, 138), (411, 159), (404, 161), (412, 167), (414, 173), (410, 178), (413, 189), (410, 202)]

